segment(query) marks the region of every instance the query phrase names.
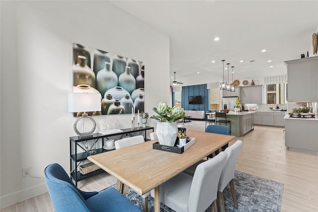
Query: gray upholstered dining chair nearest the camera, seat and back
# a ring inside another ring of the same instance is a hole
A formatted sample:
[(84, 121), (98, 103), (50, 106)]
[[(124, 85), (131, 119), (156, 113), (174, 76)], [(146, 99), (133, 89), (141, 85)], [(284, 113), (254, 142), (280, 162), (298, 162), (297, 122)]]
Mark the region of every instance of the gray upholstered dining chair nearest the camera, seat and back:
[(209, 206), (217, 212), (217, 187), (226, 158), (221, 152), (199, 164), (193, 177), (180, 173), (161, 184), (160, 202), (176, 212), (205, 212)]

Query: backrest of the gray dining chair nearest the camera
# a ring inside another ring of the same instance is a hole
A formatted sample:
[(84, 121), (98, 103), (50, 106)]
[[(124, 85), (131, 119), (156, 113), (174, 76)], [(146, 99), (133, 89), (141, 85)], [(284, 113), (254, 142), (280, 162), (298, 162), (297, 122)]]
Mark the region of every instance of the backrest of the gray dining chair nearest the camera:
[(197, 166), (189, 194), (189, 212), (204, 212), (217, 199), (219, 179), (226, 159), (227, 153), (221, 152)]

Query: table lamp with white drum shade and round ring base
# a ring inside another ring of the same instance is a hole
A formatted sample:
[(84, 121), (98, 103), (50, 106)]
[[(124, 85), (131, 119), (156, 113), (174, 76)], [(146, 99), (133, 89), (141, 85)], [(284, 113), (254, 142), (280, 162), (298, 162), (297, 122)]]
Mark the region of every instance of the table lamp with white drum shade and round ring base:
[[(70, 93), (69, 94), (69, 112), (84, 112), (74, 123), (74, 131), (80, 138), (92, 137), (92, 133), (96, 129), (96, 122), (89, 117), (86, 112), (101, 111), (101, 95), (100, 93)], [(85, 120), (92, 122), (92, 128), (85, 131)], [(78, 123), (82, 124), (82, 132), (79, 131)]]

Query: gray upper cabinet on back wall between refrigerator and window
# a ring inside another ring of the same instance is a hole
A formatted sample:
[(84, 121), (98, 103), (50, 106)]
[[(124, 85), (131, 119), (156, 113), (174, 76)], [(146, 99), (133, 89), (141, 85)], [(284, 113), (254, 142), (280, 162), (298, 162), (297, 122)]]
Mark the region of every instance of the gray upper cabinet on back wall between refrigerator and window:
[(262, 103), (262, 85), (246, 86), (240, 88), (241, 104), (261, 104)]

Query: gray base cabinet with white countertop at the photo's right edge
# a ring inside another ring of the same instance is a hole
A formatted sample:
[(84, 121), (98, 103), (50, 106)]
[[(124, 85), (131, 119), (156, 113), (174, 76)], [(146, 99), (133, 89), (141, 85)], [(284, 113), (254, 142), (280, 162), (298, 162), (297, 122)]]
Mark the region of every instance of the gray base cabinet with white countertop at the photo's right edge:
[(292, 151), (318, 154), (318, 118), (291, 118), (285, 120), (285, 146)]

